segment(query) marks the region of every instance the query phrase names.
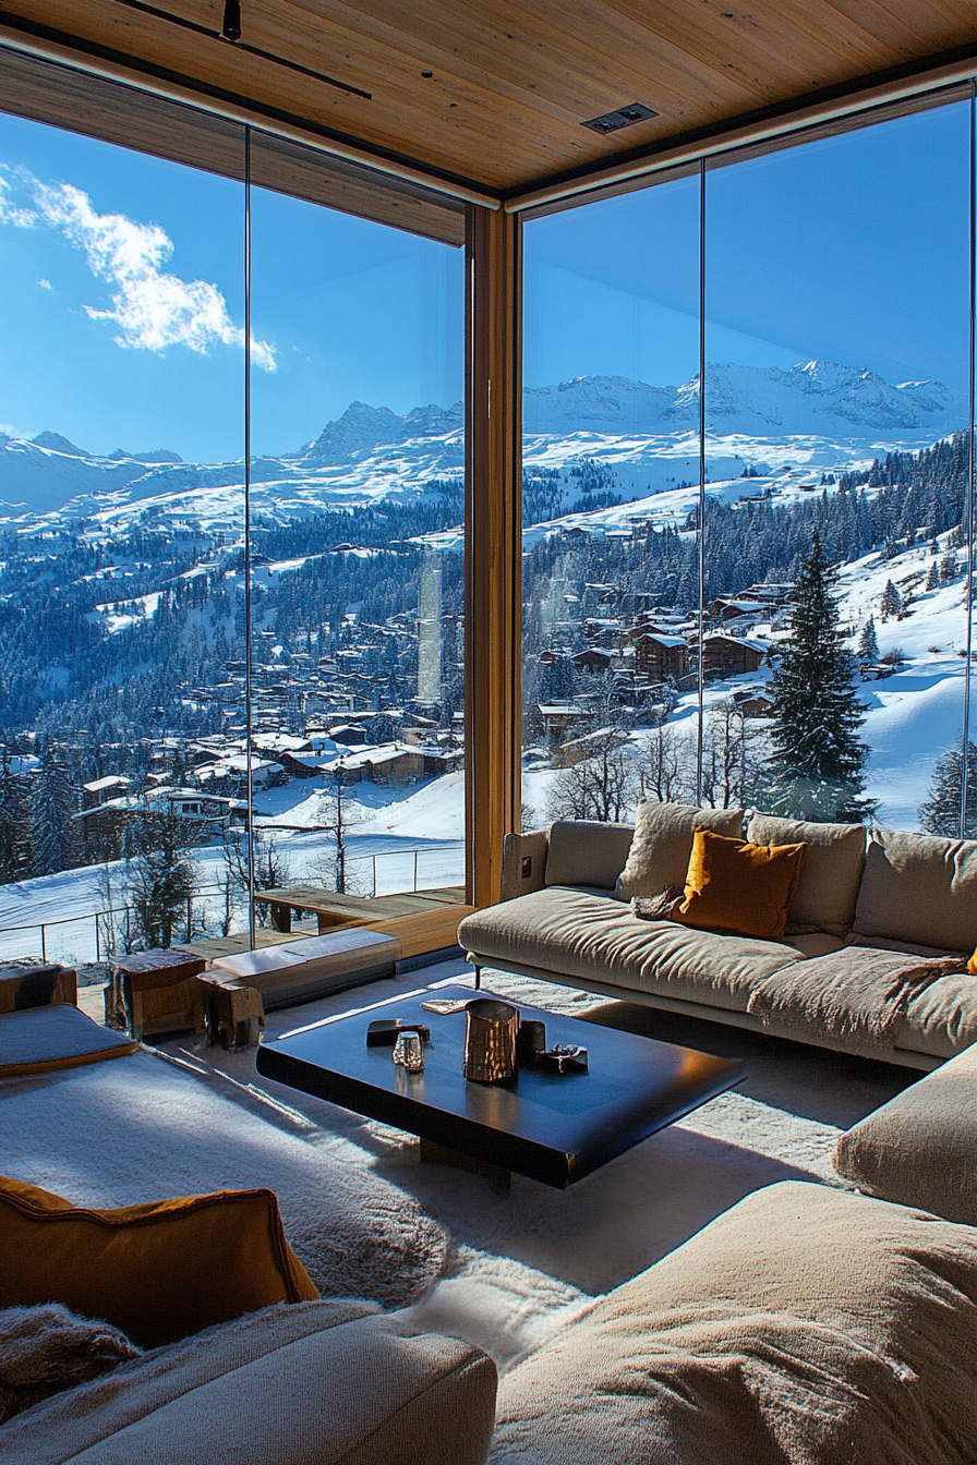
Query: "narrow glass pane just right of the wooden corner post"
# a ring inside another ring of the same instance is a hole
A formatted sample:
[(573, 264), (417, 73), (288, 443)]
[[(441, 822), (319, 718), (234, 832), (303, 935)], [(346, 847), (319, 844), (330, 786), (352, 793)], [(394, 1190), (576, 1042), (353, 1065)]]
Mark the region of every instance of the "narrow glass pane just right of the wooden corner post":
[(694, 801), (699, 179), (526, 226), (523, 822)]

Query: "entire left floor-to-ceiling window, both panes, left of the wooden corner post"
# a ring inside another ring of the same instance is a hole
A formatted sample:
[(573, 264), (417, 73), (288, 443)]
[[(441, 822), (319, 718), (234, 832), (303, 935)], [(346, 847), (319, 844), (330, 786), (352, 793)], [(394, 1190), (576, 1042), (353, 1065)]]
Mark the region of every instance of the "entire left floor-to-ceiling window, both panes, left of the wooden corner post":
[(3, 64), (0, 954), (463, 883), (463, 207)]

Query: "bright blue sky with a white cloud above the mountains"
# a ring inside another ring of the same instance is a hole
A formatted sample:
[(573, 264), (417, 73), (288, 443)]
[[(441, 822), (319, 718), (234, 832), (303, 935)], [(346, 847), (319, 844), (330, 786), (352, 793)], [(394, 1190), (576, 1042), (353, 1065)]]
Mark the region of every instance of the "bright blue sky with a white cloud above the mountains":
[[(707, 355), (811, 356), (967, 387), (968, 108), (955, 104), (707, 182)], [(0, 423), (92, 451), (239, 457), (243, 189), (0, 117)], [(461, 396), (457, 249), (255, 190), (256, 451), (353, 400)], [(697, 366), (699, 185), (526, 226), (526, 384)]]

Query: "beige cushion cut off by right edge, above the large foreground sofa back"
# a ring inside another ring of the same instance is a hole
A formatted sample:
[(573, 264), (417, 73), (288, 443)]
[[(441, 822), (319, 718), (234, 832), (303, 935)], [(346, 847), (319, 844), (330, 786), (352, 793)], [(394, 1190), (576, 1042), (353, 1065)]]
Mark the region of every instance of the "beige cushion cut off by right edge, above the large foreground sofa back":
[(870, 1195), (977, 1226), (977, 1047), (842, 1134), (835, 1165)]

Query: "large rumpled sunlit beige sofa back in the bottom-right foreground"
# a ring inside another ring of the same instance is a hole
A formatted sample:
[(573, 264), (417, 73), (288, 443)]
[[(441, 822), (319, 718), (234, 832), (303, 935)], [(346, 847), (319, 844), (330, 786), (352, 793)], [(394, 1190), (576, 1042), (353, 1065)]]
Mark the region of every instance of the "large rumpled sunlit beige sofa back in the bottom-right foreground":
[(977, 1232), (759, 1191), (502, 1379), (494, 1465), (973, 1465)]

